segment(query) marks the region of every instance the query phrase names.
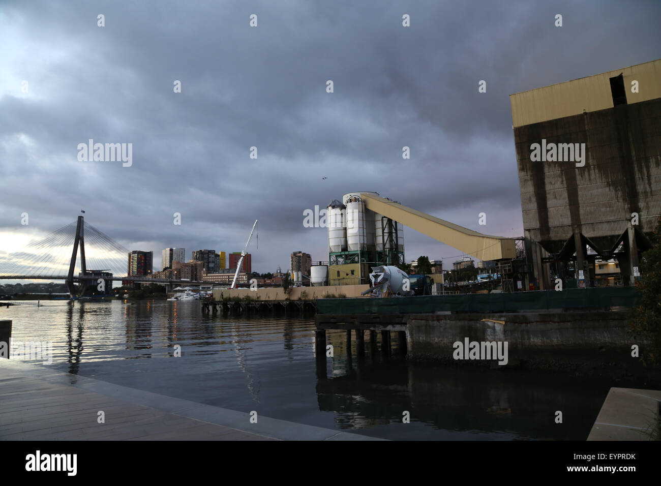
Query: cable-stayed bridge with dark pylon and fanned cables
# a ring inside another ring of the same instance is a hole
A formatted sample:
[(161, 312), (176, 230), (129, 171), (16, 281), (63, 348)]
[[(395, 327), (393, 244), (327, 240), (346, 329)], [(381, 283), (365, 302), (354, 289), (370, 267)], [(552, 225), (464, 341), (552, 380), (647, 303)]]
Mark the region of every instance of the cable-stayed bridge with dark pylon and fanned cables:
[[(46, 237), (32, 241), (23, 251), (0, 259), (0, 279), (65, 280), (71, 298), (83, 296), (97, 280), (151, 284), (210, 284), (191, 280), (128, 275), (128, 249), (85, 222), (83, 216)], [(76, 287), (75, 284), (78, 284)]]

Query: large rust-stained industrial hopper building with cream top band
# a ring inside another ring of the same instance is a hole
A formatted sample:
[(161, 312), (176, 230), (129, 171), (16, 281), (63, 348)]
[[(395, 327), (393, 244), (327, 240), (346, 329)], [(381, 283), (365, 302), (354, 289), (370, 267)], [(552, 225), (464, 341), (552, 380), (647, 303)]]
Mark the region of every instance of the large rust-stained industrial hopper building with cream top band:
[[(661, 213), (661, 60), (510, 96), (529, 282), (639, 276)], [(611, 265), (613, 266), (613, 265)]]

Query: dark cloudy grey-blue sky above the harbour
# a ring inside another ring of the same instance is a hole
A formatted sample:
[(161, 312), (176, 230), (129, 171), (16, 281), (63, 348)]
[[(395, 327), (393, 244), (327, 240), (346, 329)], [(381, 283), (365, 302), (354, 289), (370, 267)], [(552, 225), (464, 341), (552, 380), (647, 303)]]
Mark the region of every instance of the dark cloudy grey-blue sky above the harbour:
[[(285, 270), (328, 259), (303, 211), (356, 190), (522, 235), (509, 95), (661, 58), (660, 18), (657, 0), (2, 1), (0, 258), (84, 208), (155, 266), (241, 251), (258, 219), (253, 270)], [(78, 161), (90, 138), (132, 143), (132, 166)]]

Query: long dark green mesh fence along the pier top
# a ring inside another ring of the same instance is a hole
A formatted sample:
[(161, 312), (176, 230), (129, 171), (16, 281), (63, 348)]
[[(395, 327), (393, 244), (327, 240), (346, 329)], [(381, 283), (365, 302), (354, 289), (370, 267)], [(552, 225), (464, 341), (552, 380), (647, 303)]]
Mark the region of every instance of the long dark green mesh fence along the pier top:
[(631, 307), (634, 287), (575, 288), (561, 291), (459, 294), (391, 298), (317, 299), (317, 314), (416, 314), (451, 312), (506, 312), (545, 309), (603, 309)]

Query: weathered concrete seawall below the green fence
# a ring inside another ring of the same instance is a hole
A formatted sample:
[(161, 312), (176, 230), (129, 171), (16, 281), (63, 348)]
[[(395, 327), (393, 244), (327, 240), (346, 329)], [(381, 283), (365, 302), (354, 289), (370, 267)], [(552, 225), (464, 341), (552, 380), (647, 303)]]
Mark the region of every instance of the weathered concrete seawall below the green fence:
[(453, 344), (468, 339), (507, 342), (509, 366), (637, 366), (631, 345), (644, 344), (629, 334), (625, 312), (411, 314), (404, 320), (411, 360), (454, 361)]

